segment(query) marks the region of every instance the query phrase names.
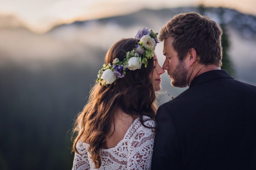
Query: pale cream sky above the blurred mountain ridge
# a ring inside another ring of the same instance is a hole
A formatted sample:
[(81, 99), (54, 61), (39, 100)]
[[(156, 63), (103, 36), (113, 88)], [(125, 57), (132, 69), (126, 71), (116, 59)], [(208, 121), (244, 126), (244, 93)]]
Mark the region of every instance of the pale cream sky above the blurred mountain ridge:
[(60, 24), (125, 15), (145, 8), (204, 4), (256, 16), (256, 0), (0, 0), (0, 4), (0, 16), (14, 15), (22, 25), (37, 33), (45, 33)]

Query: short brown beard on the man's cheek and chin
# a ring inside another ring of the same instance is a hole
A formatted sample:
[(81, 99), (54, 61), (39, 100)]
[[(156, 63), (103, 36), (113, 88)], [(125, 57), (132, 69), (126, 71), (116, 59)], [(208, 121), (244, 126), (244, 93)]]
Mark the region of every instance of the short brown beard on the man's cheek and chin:
[[(170, 75), (170, 74), (169, 74)], [(188, 70), (185, 68), (185, 62), (179, 61), (171, 78), (171, 85), (173, 87), (187, 87)]]

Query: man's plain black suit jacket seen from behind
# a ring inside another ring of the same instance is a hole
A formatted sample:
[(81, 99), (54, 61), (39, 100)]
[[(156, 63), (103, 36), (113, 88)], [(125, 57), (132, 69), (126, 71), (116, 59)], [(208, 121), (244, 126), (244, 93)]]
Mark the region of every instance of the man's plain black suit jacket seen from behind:
[(256, 86), (225, 70), (195, 77), (156, 122), (152, 170), (256, 170)]

